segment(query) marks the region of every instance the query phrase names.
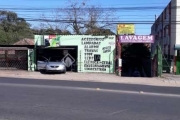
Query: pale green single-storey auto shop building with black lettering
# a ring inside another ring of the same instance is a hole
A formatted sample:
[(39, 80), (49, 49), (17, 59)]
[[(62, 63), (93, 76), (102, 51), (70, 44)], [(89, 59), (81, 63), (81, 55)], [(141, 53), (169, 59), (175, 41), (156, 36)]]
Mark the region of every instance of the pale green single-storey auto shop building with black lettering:
[(115, 72), (116, 36), (35, 35), (35, 48), (28, 51), (28, 70), (35, 71), (41, 56), (71, 58), (76, 72)]

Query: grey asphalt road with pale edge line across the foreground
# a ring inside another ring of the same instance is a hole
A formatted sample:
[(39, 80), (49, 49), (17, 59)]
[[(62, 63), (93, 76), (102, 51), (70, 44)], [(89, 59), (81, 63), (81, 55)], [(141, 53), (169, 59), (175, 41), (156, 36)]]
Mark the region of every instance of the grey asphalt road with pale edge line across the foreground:
[(178, 120), (178, 91), (177, 87), (0, 78), (0, 120)]

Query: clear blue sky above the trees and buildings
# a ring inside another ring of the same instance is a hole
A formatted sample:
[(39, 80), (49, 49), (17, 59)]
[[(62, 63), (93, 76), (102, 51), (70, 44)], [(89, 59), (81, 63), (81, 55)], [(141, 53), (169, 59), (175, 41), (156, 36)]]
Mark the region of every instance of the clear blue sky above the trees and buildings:
[[(56, 8), (61, 8), (69, 4), (68, 0), (2, 0), (0, 6), (2, 10), (13, 10), (18, 16), (23, 18), (41, 18), (42, 14), (51, 16), (52, 11)], [(78, 0), (82, 1), (82, 0)], [(170, 0), (89, 0), (90, 5), (101, 6), (103, 8), (114, 7), (157, 7), (157, 9), (128, 9), (128, 10), (117, 10), (116, 17), (118, 21), (150, 21), (151, 23), (155, 20), (155, 15), (159, 16), (165, 6)], [(14, 9), (18, 8), (18, 9)], [(25, 9), (42, 8), (43, 11), (27, 11)], [(46, 9), (48, 8), (48, 9)], [(30, 22), (33, 27), (38, 27), (38, 22)], [(152, 24), (135, 24), (135, 32), (138, 35), (149, 35)], [(116, 28), (114, 28), (116, 29)]]

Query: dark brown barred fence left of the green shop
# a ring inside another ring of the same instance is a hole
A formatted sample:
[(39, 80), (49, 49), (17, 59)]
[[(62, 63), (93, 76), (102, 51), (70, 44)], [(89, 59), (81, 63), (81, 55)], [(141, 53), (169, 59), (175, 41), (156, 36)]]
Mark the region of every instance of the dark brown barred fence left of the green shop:
[(27, 70), (27, 50), (0, 49), (0, 70)]

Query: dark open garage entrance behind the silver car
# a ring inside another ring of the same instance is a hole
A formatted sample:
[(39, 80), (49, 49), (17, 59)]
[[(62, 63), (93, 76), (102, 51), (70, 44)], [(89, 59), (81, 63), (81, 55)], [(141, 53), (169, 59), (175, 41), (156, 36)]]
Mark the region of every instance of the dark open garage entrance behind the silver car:
[[(77, 57), (78, 46), (60, 46), (51, 48), (38, 48), (36, 54), (36, 62), (38, 60), (43, 61), (43, 57), (49, 59), (50, 57), (59, 57), (62, 61), (69, 57), (71, 59), (70, 65), (66, 66), (66, 70), (71, 72), (77, 72)], [(36, 63), (37, 64), (37, 63)]]

